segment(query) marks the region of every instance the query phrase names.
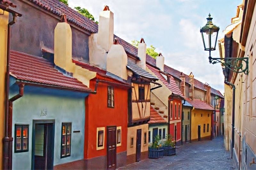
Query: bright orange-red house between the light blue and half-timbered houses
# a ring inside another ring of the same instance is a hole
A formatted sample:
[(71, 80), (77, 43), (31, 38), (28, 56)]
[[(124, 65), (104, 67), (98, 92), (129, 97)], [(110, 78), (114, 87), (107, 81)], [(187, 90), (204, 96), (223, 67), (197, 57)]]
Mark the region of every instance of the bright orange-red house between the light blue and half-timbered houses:
[(97, 73), (85, 101), (84, 163), (86, 169), (123, 166), (126, 160), (128, 89), (132, 86), (85, 63), (76, 65)]

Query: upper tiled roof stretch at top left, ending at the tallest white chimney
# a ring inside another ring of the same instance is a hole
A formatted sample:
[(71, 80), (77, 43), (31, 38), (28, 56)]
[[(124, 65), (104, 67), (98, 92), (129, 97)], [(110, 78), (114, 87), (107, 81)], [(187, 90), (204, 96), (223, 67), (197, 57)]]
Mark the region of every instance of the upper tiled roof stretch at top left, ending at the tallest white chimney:
[(80, 13), (76, 12), (72, 8), (67, 5), (61, 3), (59, 0), (27, 0), (31, 1), (38, 6), (42, 7), (44, 10), (50, 11), (55, 15), (61, 16), (61, 14), (65, 14), (67, 16), (67, 20), (75, 25), (89, 31), (91, 33), (98, 32), (98, 25), (91, 21), (90, 19), (84, 17)]

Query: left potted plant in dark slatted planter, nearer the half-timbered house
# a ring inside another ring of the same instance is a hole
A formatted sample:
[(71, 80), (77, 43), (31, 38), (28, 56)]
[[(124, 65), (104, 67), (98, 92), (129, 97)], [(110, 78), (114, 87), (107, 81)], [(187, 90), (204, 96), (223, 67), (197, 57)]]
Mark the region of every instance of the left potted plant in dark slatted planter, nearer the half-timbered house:
[(148, 158), (162, 158), (164, 156), (164, 148), (159, 141), (160, 138), (156, 135), (154, 142), (148, 147)]

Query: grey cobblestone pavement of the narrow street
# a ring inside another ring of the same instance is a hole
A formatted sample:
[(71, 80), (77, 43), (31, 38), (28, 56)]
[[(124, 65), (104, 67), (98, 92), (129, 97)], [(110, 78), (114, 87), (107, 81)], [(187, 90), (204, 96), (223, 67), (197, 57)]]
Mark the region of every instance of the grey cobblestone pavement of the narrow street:
[(183, 144), (176, 155), (159, 159), (145, 159), (118, 169), (235, 169), (223, 137), (213, 140)]

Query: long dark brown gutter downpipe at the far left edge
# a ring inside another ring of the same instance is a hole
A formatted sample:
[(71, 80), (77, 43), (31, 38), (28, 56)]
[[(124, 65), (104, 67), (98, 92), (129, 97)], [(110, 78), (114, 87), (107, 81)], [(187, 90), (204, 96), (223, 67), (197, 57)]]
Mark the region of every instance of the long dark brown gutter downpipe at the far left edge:
[[(5, 75), (5, 117), (4, 117), (4, 138), (3, 138), (3, 169), (12, 169), (12, 137), (8, 137), (9, 119), (9, 83), (10, 83), (10, 46), (11, 46), (11, 25), (15, 24), (17, 17), (22, 15), (0, 4), (0, 9), (12, 13), (12, 21), (8, 23), (7, 29), (7, 56)], [(10, 125), (9, 125), (10, 126)]]

